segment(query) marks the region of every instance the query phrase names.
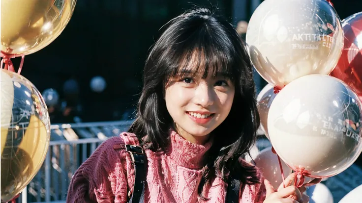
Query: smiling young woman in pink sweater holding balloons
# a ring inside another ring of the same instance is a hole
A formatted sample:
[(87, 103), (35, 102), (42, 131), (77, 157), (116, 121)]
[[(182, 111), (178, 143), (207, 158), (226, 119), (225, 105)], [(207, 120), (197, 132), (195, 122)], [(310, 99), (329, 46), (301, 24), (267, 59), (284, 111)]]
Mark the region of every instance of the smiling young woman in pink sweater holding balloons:
[(126, 203), (139, 192), (134, 156), (122, 148), (130, 143), (147, 156), (144, 202), (223, 203), (237, 180), (236, 202), (307, 203), (305, 187), (288, 186), (295, 174), (275, 190), (241, 159), (259, 115), (252, 66), (233, 26), (195, 8), (163, 28), (145, 64), (136, 120), (80, 166), (67, 202)]

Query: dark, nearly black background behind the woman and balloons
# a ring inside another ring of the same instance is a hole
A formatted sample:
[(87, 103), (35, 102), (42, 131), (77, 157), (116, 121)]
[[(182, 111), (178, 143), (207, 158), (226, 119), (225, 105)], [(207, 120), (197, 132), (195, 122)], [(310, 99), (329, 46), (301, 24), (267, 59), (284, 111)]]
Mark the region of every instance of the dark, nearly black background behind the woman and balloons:
[[(52, 123), (129, 119), (142, 88), (142, 69), (159, 28), (182, 11), (197, 5), (218, 5), (233, 19), (238, 0), (78, 0), (74, 14), (61, 35), (43, 50), (25, 57), (22, 75), (43, 92), (54, 88), (63, 102), (52, 113)], [(251, 0), (241, 0), (251, 16)], [(332, 0), (341, 19), (362, 10), (362, 1)], [(250, 9), (249, 9), (250, 8)], [(240, 11), (245, 12), (245, 11)], [(19, 59), (14, 60), (14, 65)], [(93, 76), (102, 76), (107, 87), (102, 93), (90, 88)], [(64, 82), (75, 79), (79, 94), (65, 98)], [(64, 115), (65, 106), (72, 113)], [(76, 108), (78, 106), (78, 108)]]

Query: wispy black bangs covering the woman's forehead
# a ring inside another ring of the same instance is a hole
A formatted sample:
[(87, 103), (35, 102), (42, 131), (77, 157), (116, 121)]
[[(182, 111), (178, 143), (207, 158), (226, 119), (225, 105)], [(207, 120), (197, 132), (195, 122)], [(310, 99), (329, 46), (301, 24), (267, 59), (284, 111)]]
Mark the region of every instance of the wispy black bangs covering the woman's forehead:
[(201, 26), (198, 30), (193, 30), (193, 33), (185, 31), (184, 36), (177, 36), (168, 48), (169, 51), (165, 51), (165, 78), (199, 76), (205, 79), (225, 76), (235, 82), (239, 72), (235, 67), (237, 51), (226, 33), (215, 33), (217, 32)]

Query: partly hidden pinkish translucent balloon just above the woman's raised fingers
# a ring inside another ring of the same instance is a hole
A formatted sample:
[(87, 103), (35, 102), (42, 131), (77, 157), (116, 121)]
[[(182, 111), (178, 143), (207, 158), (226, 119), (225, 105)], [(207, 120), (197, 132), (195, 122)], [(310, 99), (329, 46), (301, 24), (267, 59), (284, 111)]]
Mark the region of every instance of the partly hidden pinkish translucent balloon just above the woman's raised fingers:
[[(262, 150), (258, 156), (254, 159), (255, 165), (261, 170), (265, 179), (269, 180), (271, 185), (276, 189), (283, 182), (278, 157), (271, 152), (271, 147)], [(292, 169), (289, 168), (283, 161), (281, 161), (283, 167), (283, 174), (285, 177), (292, 173)]]

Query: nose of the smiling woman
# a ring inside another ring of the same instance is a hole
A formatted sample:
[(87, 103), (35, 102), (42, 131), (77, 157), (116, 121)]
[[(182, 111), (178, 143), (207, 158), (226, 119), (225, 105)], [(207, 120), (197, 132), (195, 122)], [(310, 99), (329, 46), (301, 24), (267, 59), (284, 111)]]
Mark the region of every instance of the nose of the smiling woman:
[(194, 94), (194, 103), (197, 105), (207, 107), (214, 102), (215, 92), (208, 84), (200, 84)]

